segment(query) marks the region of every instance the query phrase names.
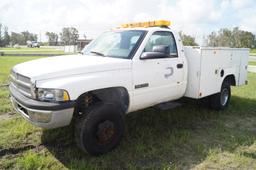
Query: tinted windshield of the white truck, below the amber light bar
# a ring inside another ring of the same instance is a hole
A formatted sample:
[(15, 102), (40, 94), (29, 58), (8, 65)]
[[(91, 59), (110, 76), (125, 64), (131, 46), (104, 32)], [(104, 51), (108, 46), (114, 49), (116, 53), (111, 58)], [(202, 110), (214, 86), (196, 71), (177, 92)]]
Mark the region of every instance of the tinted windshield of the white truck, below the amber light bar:
[(118, 30), (109, 31), (100, 35), (87, 45), (82, 53), (84, 55), (97, 55), (114, 58), (131, 58), (136, 47), (144, 37), (145, 31)]

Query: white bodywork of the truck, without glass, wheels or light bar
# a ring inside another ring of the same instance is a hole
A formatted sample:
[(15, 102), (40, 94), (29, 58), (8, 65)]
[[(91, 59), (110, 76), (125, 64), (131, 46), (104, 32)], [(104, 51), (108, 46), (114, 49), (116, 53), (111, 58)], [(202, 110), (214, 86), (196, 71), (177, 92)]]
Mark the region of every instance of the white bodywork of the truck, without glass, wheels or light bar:
[[(68, 110), (63, 109), (65, 114), (69, 115), (66, 116), (66, 120), (64, 118), (56, 120), (58, 116), (55, 114), (59, 114), (60, 110), (58, 112), (50, 110), (49, 117), (55, 119), (49, 118), (49, 122), (45, 123), (37, 122), (32, 120), (29, 114), (24, 113), (24, 110), (29, 113), (33, 110), (31, 114), (35, 114), (35, 109), (18, 100), (14, 95), (15, 89), (17, 93), (30, 98), (29, 101), (31, 100), (31, 95), (27, 94), (30, 93), (29, 89), (65, 89), (70, 101), (76, 102), (79, 96), (87, 92), (122, 88), (128, 95), (126, 113), (130, 113), (181, 97), (199, 99), (219, 93), (227, 76), (234, 77), (234, 85), (246, 83), (248, 49), (184, 47), (179, 35), (169, 28), (118, 29), (118, 31), (123, 30), (146, 32), (131, 59), (70, 55), (49, 57), (15, 66), (12, 71), (14, 83), (11, 83), (10, 91), (16, 110), (37, 126), (55, 128), (66, 126), (71, 122), (75, 106)], [(141, 59), (147, 42), (155, 32), (168, 32), (173, 35), (177, 57)], [(16, 85), (17, 82), (22, 84), (19, 75), (31, 82), (25, 83), (26, 93)], [(43, 102), (43, 105), (45, 103), (47, 102)], [(38, 114), (44, 113), (45, 110), (40, 108), (36, 109)]]

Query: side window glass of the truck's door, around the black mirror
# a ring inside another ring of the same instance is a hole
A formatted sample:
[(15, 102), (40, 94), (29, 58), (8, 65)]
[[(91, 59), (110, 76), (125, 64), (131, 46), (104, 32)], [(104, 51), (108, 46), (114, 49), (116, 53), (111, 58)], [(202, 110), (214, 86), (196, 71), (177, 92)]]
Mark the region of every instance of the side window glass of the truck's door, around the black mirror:
[(170, 49), (170, 56), (177, 57), (177, 46), (174, 36), (171, 32), (157, 31), (153, 33), (146, 44), (144, 52), (153, 52), (154, 46), (165, 45)]

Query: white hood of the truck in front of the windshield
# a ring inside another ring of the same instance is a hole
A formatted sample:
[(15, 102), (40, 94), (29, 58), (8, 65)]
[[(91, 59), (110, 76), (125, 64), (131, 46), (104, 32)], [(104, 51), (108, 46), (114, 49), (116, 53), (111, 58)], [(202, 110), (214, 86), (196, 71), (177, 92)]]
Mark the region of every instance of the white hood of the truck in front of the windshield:
[(131, 60), (86, 55), (47, 57), (16, 65), (13, 70), (34, 80), (66, 75), (130, 69)]

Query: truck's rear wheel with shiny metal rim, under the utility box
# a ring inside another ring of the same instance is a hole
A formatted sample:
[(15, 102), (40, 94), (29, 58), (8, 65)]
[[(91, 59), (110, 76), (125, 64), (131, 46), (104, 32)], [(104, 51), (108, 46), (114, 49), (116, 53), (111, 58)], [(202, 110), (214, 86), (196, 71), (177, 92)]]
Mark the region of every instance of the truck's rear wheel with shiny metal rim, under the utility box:
[(210, 98), (211, 108), (214, 110), (223, 110), (225, 109), (230, 102), (231, 90), (230, 83), (228, 81), (224, 81), (221, 86), (220, 93), (217, 93)]

